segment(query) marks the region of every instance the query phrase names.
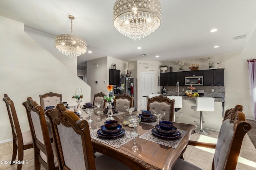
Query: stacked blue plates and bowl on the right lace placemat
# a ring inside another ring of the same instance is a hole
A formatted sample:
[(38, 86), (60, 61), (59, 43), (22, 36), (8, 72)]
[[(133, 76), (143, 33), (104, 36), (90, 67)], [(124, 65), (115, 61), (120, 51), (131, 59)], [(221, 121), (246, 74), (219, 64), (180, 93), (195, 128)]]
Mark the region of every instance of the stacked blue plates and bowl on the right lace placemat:
[(156, 137), (168, 139), (180, 137), (180, 132), (177, 131), (177, 127), (172, 124), (171, 121), (160, 121), (159, 125), (155, 125), (155, 128), (151, 130), (152, 134)]

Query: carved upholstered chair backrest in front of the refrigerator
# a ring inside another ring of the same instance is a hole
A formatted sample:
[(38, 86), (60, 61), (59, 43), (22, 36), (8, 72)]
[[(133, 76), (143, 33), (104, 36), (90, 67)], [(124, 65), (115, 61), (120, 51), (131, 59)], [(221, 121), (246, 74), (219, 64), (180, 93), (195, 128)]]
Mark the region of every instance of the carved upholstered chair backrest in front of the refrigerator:
[(116, 102), (114, 103), (114, 107), (118, 111), (126, 112), (126, 107), (133, 106), (134, 97), (129, 96), (128, 94), (120, 94), (116, 96)]

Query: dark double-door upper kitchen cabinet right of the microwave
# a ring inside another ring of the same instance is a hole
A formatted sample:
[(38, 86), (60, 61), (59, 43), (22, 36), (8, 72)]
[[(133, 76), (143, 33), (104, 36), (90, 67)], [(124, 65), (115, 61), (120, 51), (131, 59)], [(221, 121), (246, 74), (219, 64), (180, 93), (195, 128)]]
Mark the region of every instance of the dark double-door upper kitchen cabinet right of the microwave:
[(224, 68), (204, 70), (204, 86), (224, 86)]

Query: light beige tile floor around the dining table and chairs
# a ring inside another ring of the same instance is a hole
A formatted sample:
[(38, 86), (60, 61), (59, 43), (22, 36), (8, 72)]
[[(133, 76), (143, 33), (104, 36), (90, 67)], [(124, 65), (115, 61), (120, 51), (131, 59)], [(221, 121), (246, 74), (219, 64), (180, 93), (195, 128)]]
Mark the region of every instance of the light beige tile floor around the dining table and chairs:
[[(210, 131), (210, 135), (193, 134), (190, 140), (202, 141), (208, 143), (216, 143), (218, 132)], [(204, 149), (202, 147), (188, 146), (184, 158), (204, 170), (211, 170), (214, 149)], [(16, 170), (17, 165), (2, 164), (4, 160), (12, 158), (12, 142), (0, 144), (0, 170)], [(34, 152), (33, 148), (24, 150), (24, 160), (28, 160), (28, 164), (22, 165), (22, 170), (34, 169)], [(242, 143), (240, 156), (236, 170), (256, 170), (256, 149), (252, 145), (248, 135), (246, 134)], [(41, 170), (45, 170), (41, 166)]]

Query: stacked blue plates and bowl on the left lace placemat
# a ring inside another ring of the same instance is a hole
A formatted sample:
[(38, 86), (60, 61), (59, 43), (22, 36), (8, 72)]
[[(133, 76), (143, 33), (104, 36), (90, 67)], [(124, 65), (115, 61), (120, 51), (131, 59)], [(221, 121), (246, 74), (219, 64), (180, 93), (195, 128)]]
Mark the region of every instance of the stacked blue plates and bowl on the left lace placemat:
[[(117, 122), (117, 121), (116, 121)], [(117, 138), (124, 135), (125, 130), (122, 128), (122, 125), (117, 125), (117, 127), (106, 127), (105, 125), (102, 125), (100, 129), (97, 131), (98, 137), (102, 138)]]

